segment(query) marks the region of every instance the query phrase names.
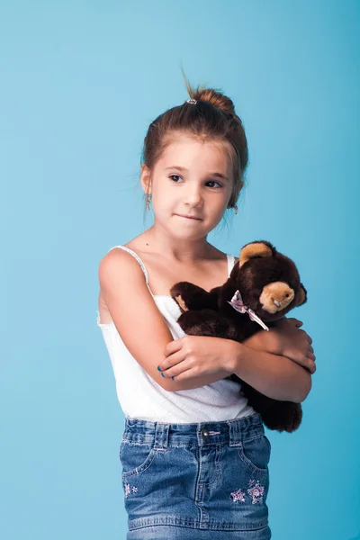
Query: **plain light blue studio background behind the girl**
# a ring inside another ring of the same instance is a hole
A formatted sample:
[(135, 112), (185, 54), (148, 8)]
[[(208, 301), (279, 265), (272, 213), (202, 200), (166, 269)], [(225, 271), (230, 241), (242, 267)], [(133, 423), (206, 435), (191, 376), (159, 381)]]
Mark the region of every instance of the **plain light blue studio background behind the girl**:
[[(0, 2), (1, 536), (124, 538), (123, 414), (96, 327), (98, 265), (143, 222), (148, 124), (192, 85), (249, 146), (229, 232), (296, 261), (318, 370), (272, 443), (275, 540), (360, 538), (357, 1)], [(232, 212), (232, 211), (231, 211)]]

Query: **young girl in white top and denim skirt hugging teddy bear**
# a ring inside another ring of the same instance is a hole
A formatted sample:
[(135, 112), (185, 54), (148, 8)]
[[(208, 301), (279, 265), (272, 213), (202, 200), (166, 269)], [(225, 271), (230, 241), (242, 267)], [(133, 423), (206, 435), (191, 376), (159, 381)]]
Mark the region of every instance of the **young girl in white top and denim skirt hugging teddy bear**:
[(260, 414), (226, 377), (301, 402), (315, 356), (296, 319), (242, 344), (185, 336), (176, 322), (171, 286), (210, 291), (238, 260), (207, 236), (227, 209), (237, 213), (247, 166), (232, 101), (186, 85), (191, 99), (158, 116), (145, 138), (140, 181), (154, 224), (99, 266), (97, 324), (125, 415), (127, 540), (267, 540), (271, 445)]

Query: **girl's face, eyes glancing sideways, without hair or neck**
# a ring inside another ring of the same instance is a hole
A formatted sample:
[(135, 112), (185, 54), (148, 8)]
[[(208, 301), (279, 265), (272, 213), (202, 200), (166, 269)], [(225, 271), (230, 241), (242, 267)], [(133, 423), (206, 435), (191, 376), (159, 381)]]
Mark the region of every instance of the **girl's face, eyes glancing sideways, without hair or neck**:
[[(201, 238), (218, 225), (232, 190), (229, 154), (220, 142), (178, 135), (152, 173), (149, 193), (156, 226), (170, 229), (176, 237)], [(146, 168), (146, 190), (145, 175)]]

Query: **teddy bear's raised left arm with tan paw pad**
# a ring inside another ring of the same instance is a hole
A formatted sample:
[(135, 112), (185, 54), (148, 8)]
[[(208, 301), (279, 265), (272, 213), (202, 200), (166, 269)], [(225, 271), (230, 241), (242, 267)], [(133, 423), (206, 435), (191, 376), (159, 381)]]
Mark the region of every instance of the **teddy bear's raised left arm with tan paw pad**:
[(190, 282), (178, 282), (170, 289), (170, 294), (178, 304), (182, 313), (189, 310), (218, 310), (217, 293), (210, 293)]

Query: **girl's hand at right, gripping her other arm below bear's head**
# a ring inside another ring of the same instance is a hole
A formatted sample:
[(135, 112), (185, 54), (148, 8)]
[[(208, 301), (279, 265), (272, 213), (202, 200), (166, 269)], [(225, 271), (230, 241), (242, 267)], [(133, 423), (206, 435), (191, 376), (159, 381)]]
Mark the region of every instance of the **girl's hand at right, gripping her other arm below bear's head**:
[(276, 338), (278, 347), (276, 355), (286, 356), (314, 374), (316, 356), (311, 347), (312, 339), (305, 330), (300, 329), (301, 326), (301, 320), (283, 317), (276, 321), (275, 327), (269, 332)]

